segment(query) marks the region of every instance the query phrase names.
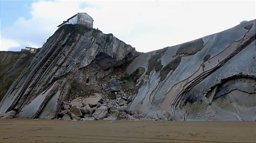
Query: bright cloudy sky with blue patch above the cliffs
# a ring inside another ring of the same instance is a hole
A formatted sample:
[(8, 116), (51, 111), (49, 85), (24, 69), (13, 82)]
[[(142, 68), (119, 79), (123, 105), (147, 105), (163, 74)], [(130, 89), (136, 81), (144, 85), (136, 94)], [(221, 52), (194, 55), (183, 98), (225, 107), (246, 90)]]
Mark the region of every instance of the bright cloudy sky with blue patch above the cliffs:
[(0, 0), (0, 51), (40, 48), (79, 12), (94, 28), (148, 52), (192, 41), (256, 19), (255, 0)]

